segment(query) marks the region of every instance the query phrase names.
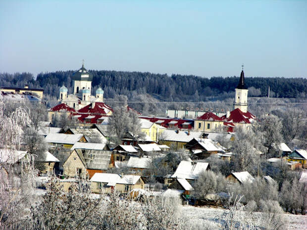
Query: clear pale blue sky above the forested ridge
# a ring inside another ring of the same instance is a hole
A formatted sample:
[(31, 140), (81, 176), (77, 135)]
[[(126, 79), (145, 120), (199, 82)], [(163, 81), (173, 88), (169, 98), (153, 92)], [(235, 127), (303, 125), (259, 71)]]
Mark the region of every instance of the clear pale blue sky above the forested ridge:
[(0, 72), (307, 77), (307, 0), (0, 0)]

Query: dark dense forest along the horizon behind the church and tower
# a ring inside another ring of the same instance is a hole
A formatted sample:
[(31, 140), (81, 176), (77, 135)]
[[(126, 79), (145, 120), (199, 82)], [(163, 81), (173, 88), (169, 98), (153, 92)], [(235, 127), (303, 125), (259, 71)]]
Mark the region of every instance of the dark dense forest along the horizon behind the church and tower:
[[(216, 97), (227, 98), (233, 95), (239, 77), (203, 78), (194, 75), (153, 74), (149, 72), (98, 71), (93, 73), (93, 93), (98, 87), (104, 90), (105, 98), (116, 94), (129, 95), (131, 92), (151, 94), (158, 100), (165, 101), (206, 101)], [(70, 76), (74, 71), (56, 71), (40, 73), (35, 79), (30, 73), (0, 74), (0, 86), (41, 88), (45, 95), (58, 96), (59, 87), (65, 85), (72, 92)], [(279, 98), (306, 98), (307, 79), (303, 78), (261, 78), (246, 77), (250, 96), (266, 96), (268, 87), (270, 95)], [(129, 96), (128, 96), (129, 97)]]

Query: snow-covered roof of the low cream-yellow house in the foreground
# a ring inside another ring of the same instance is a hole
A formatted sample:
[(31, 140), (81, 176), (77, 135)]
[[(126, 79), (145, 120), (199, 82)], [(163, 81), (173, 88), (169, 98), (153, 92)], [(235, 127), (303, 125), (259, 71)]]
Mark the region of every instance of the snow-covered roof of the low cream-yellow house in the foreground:
[(95, 173), (90, 181), (110, 183), (110, 184), (136, 184), (140, 180), (140, 178), (141, 176), (136, 176), (136, 175), (121, 176), (119, 174), (112, 174), (112, 173)]

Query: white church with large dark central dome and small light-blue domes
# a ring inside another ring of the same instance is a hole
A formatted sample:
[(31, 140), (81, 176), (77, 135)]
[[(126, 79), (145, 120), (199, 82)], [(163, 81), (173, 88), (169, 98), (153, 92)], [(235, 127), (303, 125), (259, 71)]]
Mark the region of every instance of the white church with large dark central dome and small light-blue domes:
[(92, 102), (103, 102), (103, 90), (98, 88), (96, 95), (92, 95), (93, 74), (91, 74), (84, 64), (81, 69), (72, 75), (73, 94), (67, 94), (68, 90), (65, 86), (60, 88), (59, 101), (75, 110), (79, 110)]

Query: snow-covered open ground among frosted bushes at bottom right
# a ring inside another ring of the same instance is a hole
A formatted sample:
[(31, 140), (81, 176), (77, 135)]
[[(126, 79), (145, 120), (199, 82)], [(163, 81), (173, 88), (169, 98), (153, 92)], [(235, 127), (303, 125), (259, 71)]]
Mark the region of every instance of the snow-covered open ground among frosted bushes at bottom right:
[[(194, 207), (190, 205), (183, 205), (182, 213), (185, 217), (194, 223), (210, 222), (215, 224), (217, 217), (224, 212), (222, 208), (207, 208), (207, 207)], [(257, 213), (256, 213), (257, 215)], [(307, 216), (284, 214), (285, 218), (289, 220), (288, 230), (307, 230)]]

